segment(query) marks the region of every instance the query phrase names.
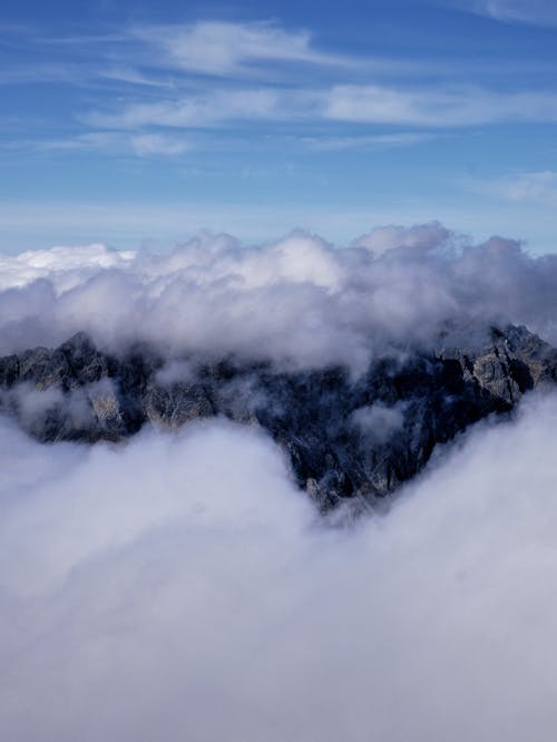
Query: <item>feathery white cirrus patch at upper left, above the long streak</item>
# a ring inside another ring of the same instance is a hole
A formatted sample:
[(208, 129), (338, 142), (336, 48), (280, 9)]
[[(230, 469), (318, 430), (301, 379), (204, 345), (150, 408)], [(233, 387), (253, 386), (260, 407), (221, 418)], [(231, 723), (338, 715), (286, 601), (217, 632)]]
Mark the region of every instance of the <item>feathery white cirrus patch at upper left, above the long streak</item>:
[[(18, 29), (17, 36), (27, 47), (42, 50), (41, 61), (3, 66), (0, 82), (85, 84), (98, 77), (168, 86), (172, 81), (159, 79), (155, 70), (178, 77), (186, 74), (238, 78), (268, 74), (277, 65), (345, 68), (356, 64), (348, 56), (319, 50), (309, 30), (286, 29), (267, 20), (136, 25), (114, 33), (60, 38), (43, 37), (26, 28)], [(67, 61), (68, 56), (71, 62)]]

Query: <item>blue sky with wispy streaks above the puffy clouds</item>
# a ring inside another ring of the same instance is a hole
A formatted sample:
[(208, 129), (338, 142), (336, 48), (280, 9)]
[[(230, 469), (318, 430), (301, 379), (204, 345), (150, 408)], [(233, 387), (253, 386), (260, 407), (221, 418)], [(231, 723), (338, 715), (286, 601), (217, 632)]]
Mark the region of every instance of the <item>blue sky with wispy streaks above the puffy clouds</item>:
[(557, 250), (557, 3), (11, 2), (0, 250), (440, 219)]

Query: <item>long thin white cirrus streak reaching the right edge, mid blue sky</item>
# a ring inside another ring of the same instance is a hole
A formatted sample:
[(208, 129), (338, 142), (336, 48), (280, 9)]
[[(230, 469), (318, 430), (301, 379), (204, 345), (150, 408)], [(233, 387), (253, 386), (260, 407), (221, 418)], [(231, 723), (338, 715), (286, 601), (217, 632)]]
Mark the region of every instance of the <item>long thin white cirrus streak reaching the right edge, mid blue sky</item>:
[[(82, 120), (99, 128), (198, 128), (254, 119), (329, 121), (451, 128), (483, 124), (557, 121), (554, 92), (501, 92), (436, 85), (395, 88), (338, 85), (323, 89), (261, 86), (194, 91), (175, 99), (133, 102), (119, 110), (91, 110)], [(416, 136), (416, 135), (413, 135)], [(351, 139), (351, 144), (354, 141)]]

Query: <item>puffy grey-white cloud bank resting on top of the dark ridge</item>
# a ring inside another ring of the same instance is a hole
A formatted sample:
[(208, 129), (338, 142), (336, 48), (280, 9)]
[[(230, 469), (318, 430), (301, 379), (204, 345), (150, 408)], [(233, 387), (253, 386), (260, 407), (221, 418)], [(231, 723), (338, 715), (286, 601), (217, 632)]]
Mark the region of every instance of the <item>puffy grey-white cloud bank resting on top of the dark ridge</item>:
[(0, 269), (4, 354), (86, 331), (115, 351), (146, 341), (169, 355), (361, 371), (450, 323), (522, 323), (557, 342), (557, 256), (500, 237), (472, 245), (437, 223), (343, 248), (303, 232), (256, 246), (203, 234), (166, 255), (55, 247)]

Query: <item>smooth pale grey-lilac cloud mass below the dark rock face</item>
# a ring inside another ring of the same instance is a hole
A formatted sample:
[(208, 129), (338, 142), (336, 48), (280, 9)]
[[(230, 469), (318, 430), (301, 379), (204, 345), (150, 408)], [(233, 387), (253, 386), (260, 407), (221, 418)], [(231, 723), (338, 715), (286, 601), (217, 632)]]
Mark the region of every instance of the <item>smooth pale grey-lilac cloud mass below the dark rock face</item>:
[(531, 399), (385, 517), (338, 529), (243, 428), (46, 449), (2, 422), (2, 729), (549, 739), (556, 430), (557, 399)]

